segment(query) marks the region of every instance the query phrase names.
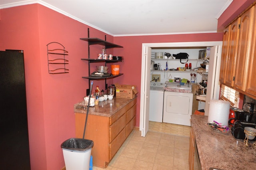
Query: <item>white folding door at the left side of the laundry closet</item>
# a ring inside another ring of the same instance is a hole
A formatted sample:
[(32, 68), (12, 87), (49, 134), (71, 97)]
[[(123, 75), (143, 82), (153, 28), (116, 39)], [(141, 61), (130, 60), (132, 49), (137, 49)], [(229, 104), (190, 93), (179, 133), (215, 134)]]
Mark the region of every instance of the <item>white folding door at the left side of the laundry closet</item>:
[(140, 116), (140, 130), (141, 136), (146, 136), (148, 132), (149, 121), (149, 96), (150, 96), (150, 62), (151, 62), (151, 48), (145, 46), (142, 50), (142, 66), (141, 66), (141, 98), (140, 98), (140, 112), (144, 112)]

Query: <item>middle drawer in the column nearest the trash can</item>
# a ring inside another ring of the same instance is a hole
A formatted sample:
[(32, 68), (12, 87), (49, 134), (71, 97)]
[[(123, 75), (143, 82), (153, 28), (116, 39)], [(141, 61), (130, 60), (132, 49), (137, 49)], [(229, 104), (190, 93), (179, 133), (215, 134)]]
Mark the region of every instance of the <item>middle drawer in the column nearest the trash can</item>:
[(111, 142), (118, 133), (125, 127), (126, 114), (123, 114), (116, 122), (114, 122), (109, 128), (109, 142)]

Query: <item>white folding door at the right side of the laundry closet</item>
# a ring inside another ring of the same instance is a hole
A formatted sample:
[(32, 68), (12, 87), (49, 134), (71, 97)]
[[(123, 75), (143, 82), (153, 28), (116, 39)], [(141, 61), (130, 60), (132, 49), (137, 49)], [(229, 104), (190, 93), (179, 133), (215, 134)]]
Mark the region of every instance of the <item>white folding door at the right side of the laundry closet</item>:
[(221, 49), (220, 46), (213, 46), (211, 47), (211, 51), (210, 51), (206, 102), (205, 102), (205, 109), (204, 109), (204, 113), (206, 116), (208, 116), (210, 100), (219, 99), (219, 94), (220, 94), (219, 75), (220, 75), (220, 58), (221, 58), (220, 49)]

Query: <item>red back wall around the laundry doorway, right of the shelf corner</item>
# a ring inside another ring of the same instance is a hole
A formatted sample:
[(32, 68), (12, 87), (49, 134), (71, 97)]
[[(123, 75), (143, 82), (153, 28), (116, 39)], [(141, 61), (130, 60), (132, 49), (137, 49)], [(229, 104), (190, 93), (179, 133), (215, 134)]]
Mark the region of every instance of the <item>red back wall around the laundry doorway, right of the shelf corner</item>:
[(160, 42), (204, 42), (222, 41), (222, 33), (207, 34), (178, 34), (160, 36), (126, 36), (115, 37), (114, 43), (124, 46), (124, 49), (116, 49), (116, 54), (124, 56), (124, 63), (120, 66), (123, 76), (115, 78), (113, 81), (119, 84), (133, 84), (139, 91), (137, 101), (136, 126), (140, 126), (140, 81), (141, 81), (141, 58), (142, 43)]

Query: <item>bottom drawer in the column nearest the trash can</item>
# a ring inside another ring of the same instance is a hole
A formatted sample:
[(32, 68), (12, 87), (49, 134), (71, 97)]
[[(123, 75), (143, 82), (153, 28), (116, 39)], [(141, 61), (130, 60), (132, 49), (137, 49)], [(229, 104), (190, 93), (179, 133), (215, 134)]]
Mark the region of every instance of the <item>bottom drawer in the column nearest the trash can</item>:
[(113, 156), (116, 154), (116, 152), (124, 143), (124, 140), (126, 139), (125, 133), (126, 133), (125, 128), (123, 128), (123, 130), (109, 144), (109, 161), (113, 158)]

